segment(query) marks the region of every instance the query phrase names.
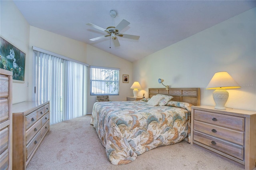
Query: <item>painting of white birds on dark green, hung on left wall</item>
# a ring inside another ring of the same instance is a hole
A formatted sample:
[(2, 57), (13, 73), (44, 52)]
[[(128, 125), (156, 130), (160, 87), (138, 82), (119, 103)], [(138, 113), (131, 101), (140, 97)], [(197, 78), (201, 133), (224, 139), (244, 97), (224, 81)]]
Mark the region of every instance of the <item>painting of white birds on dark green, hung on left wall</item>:
[(0, 37), (0, 68), (12, 71), (13, 82), (25, 83), (26, 53)]

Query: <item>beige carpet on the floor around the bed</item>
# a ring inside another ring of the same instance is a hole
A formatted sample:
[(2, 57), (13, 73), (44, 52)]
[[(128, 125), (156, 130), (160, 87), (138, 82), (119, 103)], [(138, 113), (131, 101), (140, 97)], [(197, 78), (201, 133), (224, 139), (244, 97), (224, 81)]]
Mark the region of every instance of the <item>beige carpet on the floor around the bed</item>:
[[(239, 166), (186, 141), (139, 155), (126, 165), (112, 165), (90, 115), (50, 126), (27, 170), (241, 170)], [(256, 169), (256, 168), (254, 168)]]

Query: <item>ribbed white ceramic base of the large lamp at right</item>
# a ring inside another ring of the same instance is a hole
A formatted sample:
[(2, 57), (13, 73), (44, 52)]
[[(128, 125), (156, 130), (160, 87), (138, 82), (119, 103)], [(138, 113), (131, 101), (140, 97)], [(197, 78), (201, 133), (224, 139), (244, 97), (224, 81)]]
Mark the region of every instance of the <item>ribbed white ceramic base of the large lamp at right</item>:
[(226, 110), (225, 104), (228, 101), (228, 91), (226, 89), (216, 89), (212, 93), (215, 102), (215, 109)]

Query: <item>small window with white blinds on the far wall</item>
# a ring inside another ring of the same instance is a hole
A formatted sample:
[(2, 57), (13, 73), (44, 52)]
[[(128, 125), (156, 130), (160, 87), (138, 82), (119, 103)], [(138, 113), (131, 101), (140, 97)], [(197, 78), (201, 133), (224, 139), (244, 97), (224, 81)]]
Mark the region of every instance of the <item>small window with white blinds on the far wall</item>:
[(90, 68), (90, 95), (119, 95), (120, 69), (96, 66)]

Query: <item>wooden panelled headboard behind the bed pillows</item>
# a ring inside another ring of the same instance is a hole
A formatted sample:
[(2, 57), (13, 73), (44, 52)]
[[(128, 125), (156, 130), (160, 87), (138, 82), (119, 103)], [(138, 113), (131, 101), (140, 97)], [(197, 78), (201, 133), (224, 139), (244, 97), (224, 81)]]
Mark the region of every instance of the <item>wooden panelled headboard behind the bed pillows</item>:
[(172, 101), (182, 101), (191, 103), (192, 105), (200, 105), (200, 88), (149, 88), (148, 97), (157, 94), (172, 96)]

